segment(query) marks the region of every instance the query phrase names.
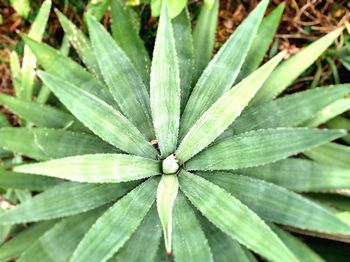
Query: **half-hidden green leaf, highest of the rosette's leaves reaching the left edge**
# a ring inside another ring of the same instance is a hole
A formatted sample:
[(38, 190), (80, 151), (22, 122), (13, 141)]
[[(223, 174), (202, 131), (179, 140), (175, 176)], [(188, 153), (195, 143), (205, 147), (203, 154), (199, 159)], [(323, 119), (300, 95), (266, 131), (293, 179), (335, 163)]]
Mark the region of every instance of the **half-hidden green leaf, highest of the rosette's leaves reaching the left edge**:
[(5, 94), (0, 94), (0, 104), (38, 127), (70, 128), (75, 131), (88, 131), (72, 115), (48, 105), (24, 101)]

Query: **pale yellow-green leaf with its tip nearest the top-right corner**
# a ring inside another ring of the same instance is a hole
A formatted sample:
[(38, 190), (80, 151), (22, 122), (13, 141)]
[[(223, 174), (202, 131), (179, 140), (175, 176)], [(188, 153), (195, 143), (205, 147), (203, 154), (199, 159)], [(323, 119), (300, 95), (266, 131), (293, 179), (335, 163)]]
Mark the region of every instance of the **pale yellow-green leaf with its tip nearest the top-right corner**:
[(253, 104), (261, 104), (279, 95), (299, 75), (301, 75), (316, 59), (334, 42), (343, 28), (339, 28), (305, 47), (296, 55), (285, 61), (271, 74), (261, 90), (257, 93)]

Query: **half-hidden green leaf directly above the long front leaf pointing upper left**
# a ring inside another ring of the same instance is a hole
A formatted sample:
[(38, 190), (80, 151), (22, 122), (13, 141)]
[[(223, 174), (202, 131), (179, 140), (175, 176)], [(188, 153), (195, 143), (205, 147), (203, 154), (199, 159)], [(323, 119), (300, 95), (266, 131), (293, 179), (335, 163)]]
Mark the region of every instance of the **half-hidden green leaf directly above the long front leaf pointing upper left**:
[(35, 54), (38, 63), (47, 72), (76, 85), (118, 109), (108, 88), (81, 65), (46, 44), (26, 36), (22, 36), (22, 38)]

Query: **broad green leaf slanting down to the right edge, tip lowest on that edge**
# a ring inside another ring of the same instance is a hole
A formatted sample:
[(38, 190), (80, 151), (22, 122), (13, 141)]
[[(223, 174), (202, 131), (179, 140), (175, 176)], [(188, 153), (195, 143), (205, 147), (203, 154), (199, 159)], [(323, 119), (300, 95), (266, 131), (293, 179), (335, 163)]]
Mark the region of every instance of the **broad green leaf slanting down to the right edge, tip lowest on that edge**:
[(350, 234), (350, 226), (334, 213), (283, 187), (227, 172), (199, 174), (235, 196), (264, 220), (329, 234)]

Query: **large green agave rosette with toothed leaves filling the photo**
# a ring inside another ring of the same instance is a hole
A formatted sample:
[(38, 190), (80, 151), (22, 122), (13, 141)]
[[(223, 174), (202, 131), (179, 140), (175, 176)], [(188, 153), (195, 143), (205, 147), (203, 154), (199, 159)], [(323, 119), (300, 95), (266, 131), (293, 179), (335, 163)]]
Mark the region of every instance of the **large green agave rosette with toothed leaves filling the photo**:
[[(315, 122), (350, 86), (273, 100), (342, 29), (256, 69), (283, 11), (263, 18), (267, 4), (209, 64), (195, 50), (203, 42), (196, 38), (192, 48), (186, 10), (171, 19), (166, 3), (152, 61), (118, 1), (111, 2), (115, 39), (89, 15), (87, 38), (56, 11), (87, 69), (23, 36), (45, 70), (43, 88), (63, 106), (0, 96), (32, 123), (0, 129), (1, 147), (30, 162), (3, 167), (0, 185), (41, 192), (0, 214), (2, 226), (30, 223), (0, 247), (0, 259), (255, 261), (255, 253), (322, 261), (286, 229), (348, 240), (338, 209), (298, 193), (350, 187), (348, 168), (306, 157), (346, 135)], [(197, 25), (195, 35), (203, 30)]]

